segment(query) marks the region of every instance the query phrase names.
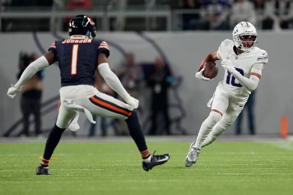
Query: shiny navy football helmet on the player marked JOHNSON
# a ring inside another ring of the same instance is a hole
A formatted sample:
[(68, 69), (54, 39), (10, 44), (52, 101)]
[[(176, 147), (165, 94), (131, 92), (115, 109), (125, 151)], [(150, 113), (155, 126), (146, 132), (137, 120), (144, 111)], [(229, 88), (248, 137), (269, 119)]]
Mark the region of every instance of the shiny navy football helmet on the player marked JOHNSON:
[(85, 15), (77, 15), (68, 23), (69, 37), (72, 35), (84, 35), (90, 39), (96, 36), (96, 26), (93, 20)]

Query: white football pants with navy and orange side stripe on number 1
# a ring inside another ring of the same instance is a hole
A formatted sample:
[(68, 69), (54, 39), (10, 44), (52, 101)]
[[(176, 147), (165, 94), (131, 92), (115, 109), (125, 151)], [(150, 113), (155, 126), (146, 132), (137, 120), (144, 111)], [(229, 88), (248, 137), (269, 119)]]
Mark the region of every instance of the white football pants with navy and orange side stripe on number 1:
[[(89, 89), (86, 93), (84, 92), (84, 87), (79, 89), (80, 87), (80, 85), (77, 85), (61, 88), (61, 103), (56, 121), (56, 125), (59, 128), (68, 127), (70, 120), (77, 115), (75, 109), (66, 106), (65, 101), (70, 101), (82, 106), (92, 115), (100, 117), (111, 117), (125, 120), (131, 115), (133, 108), (130, 105), (99, 92), (93, 86), (85, 86), (85, 88)], [(64, 90), (64, 88), (66, 89)]]

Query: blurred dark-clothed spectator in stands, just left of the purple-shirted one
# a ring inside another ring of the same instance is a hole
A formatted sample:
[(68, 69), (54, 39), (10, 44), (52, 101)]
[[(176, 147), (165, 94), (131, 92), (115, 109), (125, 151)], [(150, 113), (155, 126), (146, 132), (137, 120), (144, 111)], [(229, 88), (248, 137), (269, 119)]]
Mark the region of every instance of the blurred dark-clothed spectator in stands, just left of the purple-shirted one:
[[(178, 6), (180, 9), (199, 9), (201, 7), (200, 0), (179, 0)], [(192, 30), (200, 28), (200, 15), (194, 14), (182, 14), (183, 30)]]

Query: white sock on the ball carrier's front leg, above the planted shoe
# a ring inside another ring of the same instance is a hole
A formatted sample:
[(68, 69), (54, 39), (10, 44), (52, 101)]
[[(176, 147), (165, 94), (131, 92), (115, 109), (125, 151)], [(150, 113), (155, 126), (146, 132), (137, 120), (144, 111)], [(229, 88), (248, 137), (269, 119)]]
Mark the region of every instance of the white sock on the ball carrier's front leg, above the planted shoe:
[(209, 117), (205, 119), (202, 123), (200, 130), (197, 134), (196, 142), (194, 144), (194, 148), (201, 148), (202, 143), (208, 137), (209, 132), (215, 126), (215, 124), (221, 119), (221, 115), (216, 112), (210, 112)]

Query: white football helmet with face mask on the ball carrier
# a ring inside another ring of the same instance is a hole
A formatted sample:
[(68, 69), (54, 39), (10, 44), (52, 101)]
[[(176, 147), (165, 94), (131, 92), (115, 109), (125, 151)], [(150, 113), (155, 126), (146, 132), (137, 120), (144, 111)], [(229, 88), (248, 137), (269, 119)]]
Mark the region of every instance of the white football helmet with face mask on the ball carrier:
[[(234, 27), (232, 35), (235, 46), (244, 52), (249, 53), (256, 46), (258, 38), (257, 30), (248, 21), (238, 23)], [(243, 39), (251, 39), (252, 41), (243, 41)]]

